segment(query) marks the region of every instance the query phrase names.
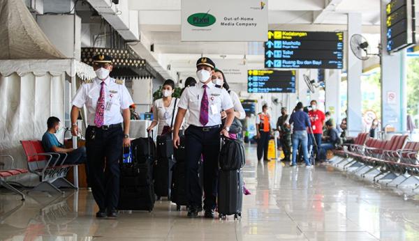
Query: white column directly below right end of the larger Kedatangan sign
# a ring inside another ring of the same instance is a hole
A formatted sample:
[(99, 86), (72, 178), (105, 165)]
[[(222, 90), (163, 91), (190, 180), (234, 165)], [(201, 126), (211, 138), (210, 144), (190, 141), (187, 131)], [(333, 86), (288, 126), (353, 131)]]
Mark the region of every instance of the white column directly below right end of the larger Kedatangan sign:
[(330, 111), (337, 124), (341, 121), (340, 102), (341, 70), (325, 71), (326, 100), (325, 111)]

